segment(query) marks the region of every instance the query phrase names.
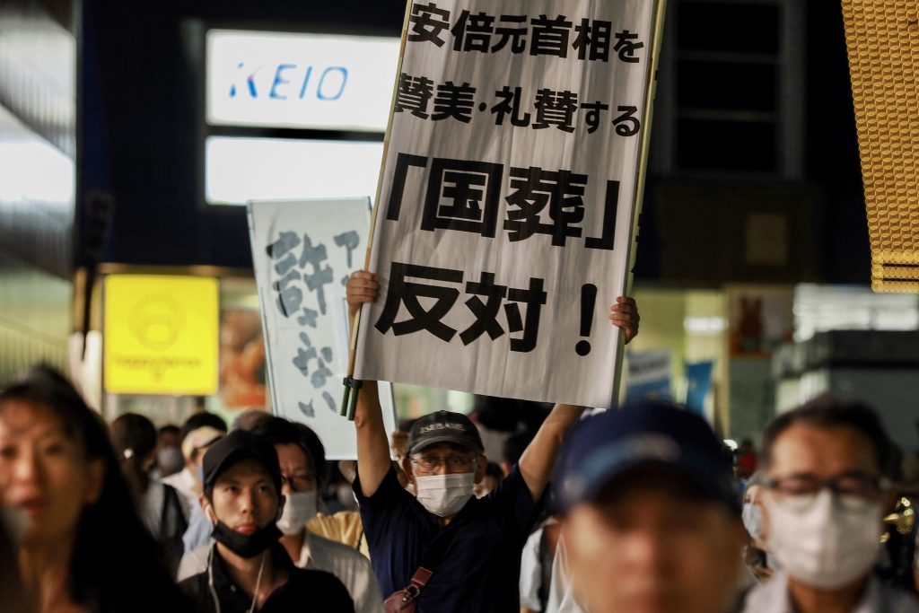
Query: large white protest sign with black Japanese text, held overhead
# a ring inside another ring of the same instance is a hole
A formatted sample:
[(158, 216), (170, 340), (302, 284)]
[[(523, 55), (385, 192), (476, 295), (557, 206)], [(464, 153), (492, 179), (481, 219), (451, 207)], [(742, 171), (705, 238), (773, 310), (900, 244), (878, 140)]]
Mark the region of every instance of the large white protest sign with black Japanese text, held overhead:
[(358, 379), (613, 402), (657, 6), (411, 6)]

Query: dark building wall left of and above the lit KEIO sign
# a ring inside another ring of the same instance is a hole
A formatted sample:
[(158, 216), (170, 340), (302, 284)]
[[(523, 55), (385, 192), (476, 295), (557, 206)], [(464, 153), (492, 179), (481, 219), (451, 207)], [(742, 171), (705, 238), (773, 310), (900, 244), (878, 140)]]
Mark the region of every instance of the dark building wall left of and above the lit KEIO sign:
[(208, 207), (199, 184), (199, 26), (399, 36), (403, 11), (392, 0), (87, 3), (105, 123), (94, 138), (108, 151), (86, 172), (108, 175), (115, 197), (105, 259), (251, 267), (244, 210)]

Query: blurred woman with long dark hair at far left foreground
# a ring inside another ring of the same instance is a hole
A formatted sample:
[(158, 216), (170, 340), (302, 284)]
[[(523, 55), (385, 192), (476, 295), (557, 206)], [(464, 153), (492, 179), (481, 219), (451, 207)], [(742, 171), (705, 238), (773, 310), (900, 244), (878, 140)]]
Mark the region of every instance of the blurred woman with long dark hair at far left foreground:
[(40, 613), (194, 610), (143, 528), (105, 424), (54, 370), (0, 392), (0, 502), (28, 515), (17, 557)]

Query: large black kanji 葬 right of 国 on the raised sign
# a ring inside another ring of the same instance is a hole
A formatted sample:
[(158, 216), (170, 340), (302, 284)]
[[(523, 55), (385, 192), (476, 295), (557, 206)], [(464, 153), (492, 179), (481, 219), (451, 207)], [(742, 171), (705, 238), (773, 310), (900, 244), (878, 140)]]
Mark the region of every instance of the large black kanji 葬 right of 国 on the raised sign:
[[(542, 168), (511, 168), (510, 187), (516, 189), (506, 197), (505, 230), (511, 242), (523, 241), (533, 234), (550, 234), (554, 246), (564, 246), (569, 236), (581, 236), (576, 224), (584, 220), (584, 187), (586, 175), (568, 170), (557, 172)], [(540, 213), (549, 205), (552, 223), (540, 220)]]

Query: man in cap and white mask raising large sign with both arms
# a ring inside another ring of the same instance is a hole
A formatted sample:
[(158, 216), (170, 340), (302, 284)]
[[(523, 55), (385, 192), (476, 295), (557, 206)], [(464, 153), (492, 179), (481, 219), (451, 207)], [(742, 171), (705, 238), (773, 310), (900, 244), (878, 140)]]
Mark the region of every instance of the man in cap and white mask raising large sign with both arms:
[[(354, 273), (347, 284), (352, 319), (360, 304), (374, 301), (378, 293), (372, 274)], [(638, 334), (633, 300), (620, 297), (610, 312), (626, 342)], [(412, 427), (403, 460), (414, 497), (391, 465), (377, 384), (364, 381), (355, 415), (354, 489), (383, 595), (415, 601), (419, 611), (518, 610), (520, 552), (562, 437), (583, 410), (556, 405), (510, 475), (482, 499), (472, 497), (472, 485), (482, 480), (487, 463), (475, 426), (464, 414), (426, 415)]]

